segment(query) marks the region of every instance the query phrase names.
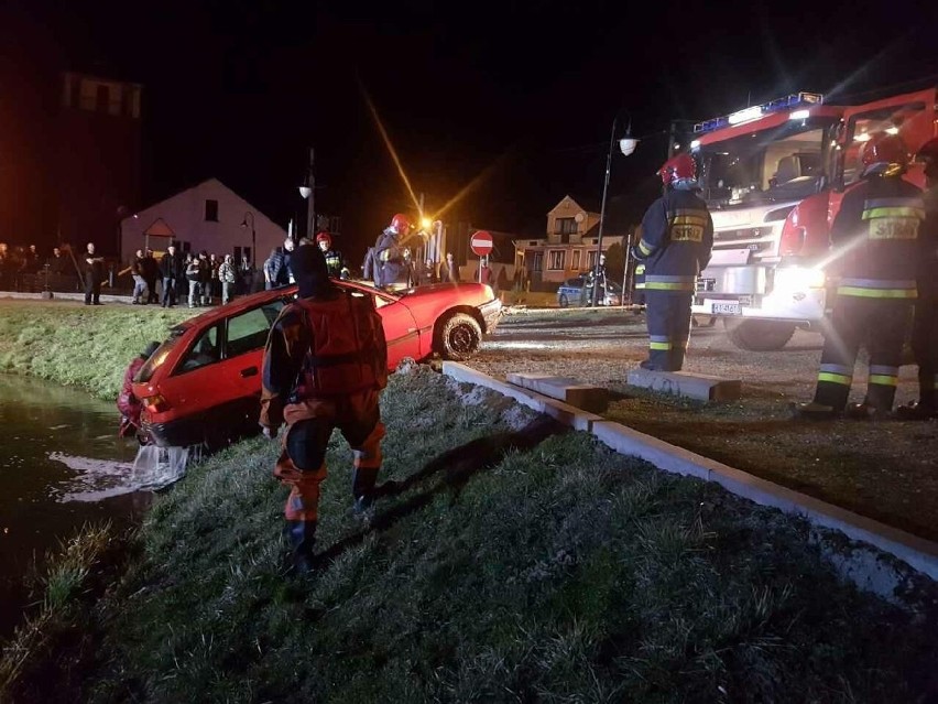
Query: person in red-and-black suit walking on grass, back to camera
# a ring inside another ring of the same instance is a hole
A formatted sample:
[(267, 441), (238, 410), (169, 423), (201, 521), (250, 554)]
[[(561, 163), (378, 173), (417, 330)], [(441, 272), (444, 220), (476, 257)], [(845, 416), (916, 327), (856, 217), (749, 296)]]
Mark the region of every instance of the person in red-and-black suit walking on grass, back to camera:
[(388, 345), (372, 297), (336, 286), (318, 247), (298, 247), (291, 266), (299, 296), (281, 311), (268, 337), (260, 423), (268, 437), (286, 423), (274, 476), (290, 487), (285, 532), (293, 567), (305, 574), (314, 567), (319, 484), (334, 429), (353, 452), (356, 509), (374, 499)]

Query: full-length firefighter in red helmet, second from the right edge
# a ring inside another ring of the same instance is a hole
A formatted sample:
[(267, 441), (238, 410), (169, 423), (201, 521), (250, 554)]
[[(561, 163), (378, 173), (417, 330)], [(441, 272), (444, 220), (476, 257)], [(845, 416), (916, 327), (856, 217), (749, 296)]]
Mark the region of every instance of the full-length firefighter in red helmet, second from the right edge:
[[(902, 177), (908, 152), (897, 134), (876, 132), (862, 149), (861, 181), (843, 195), (830, 228), (827, 273), (839, 281), (815, 398), (793, 409), (796, 418), (884, 418), (895, 400), (925, 205), (921, 188)], [(848, 407), (861, 346), (870, 354), (866, 397)]]

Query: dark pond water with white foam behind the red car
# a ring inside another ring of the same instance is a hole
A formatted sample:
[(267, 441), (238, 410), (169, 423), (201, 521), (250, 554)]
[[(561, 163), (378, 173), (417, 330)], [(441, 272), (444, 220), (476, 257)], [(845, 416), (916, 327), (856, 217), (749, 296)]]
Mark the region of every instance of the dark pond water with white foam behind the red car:
[(0, 638), (22, 618), (22, 578), (85, 523), (137, 523), (152, 492), (132, 478), (138, 444), (113, 402), (0, 375)]

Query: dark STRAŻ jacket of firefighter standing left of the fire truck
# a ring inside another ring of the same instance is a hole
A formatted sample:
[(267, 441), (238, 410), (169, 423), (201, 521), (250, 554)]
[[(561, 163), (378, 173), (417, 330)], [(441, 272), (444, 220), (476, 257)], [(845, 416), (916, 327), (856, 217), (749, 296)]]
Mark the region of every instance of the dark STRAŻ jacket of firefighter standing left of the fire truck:
[(642, 218), (635, 257), (645, 264), (645, 290), (692, 293), (712, 247), (707, 204), (690, 191), (668, 191)]

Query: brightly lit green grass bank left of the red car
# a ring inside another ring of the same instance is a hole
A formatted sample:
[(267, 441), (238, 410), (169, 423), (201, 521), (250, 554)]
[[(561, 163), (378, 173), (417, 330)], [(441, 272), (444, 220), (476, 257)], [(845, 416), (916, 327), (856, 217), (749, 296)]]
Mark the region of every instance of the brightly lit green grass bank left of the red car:
[(0, 372), (41, 377), (113, 399), (127, 366), (146, 343), (162, 342), (170, 327), (192, 314), (155, 305), (0, 300)]

